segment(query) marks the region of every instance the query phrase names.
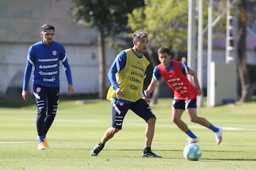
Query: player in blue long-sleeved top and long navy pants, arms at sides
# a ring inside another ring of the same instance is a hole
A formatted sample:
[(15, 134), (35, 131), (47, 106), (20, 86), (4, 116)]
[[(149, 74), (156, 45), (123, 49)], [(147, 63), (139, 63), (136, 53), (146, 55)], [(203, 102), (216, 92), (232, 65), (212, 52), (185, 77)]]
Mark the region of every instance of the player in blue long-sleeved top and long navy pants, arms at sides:
[(28, 57), (23, 78), (22, 98), (28, 100), (28, 81), (33, 69), (33, 95), (36, 101), (36, 128), (38, 133), (38, 149), (48, 149), (46, 134), (57, 113), (60, 90), (60, 62), (63, 64), (68, 79), (68, 94), (74, 94), (70, 65), (65, 47), (53, 41), (55, 27), (43, 24), (39, 42), (28, 49)]

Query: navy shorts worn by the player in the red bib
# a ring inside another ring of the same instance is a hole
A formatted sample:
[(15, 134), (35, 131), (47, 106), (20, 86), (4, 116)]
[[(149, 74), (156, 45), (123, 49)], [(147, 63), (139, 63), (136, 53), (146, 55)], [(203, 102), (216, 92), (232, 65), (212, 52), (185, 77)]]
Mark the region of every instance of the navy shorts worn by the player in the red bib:
[(194, 98), (193, 100), (191, 99), (181, 100), (178, 98), (174, 98), (173, 108), (183, 109), (183, 110), (187, 108), (196, 108), (196, 98)]

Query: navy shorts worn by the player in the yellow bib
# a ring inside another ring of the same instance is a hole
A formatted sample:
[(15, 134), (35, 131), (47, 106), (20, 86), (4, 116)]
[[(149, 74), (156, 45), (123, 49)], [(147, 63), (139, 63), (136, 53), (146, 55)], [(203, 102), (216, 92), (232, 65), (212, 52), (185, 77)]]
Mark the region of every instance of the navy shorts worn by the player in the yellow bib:
[(147, 122), (149, 118), (156, 118), (144, 99), (139, 99), (132, 103), (122, 103), (117, 101), (112, 103), (112, 128), (122, 130), (122, 123), (129, 109), (139, 115), (139, 117), (143, 118), (145, 122)]

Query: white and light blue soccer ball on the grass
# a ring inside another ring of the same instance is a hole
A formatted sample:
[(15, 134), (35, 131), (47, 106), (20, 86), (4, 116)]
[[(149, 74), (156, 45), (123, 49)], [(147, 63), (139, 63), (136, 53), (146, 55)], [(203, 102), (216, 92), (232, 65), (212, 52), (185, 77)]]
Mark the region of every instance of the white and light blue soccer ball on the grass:
[(189, 161), (198, 161), (202, 157), (202, 150), (196, 143), (188, 144), (183, 149), (183, 156)]

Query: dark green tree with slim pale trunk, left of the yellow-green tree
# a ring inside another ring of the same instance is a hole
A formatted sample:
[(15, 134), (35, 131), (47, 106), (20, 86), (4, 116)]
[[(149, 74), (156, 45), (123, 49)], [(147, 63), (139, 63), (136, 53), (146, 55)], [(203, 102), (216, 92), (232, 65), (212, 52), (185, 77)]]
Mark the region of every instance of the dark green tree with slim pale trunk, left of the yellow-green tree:
[(99, 98), (106, 96), (105, 38), (127, 31), (128, 13), (144, 6), (143, 0), (73, 0), (73, 21), (86, 28), (97, 28), (99, 51)]

